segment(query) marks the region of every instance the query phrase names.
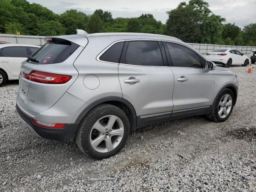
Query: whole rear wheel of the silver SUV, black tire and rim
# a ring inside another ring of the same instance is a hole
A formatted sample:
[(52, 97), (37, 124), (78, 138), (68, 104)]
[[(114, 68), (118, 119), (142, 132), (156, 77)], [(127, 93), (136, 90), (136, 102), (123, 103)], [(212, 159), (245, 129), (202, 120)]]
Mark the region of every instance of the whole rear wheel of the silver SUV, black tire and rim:
[(101, 104), (82, 120), (76, 143), (87, 156), (104, 159), (117, 154), (129, 134), (130, 123), (124, 111), (110, 104)]

